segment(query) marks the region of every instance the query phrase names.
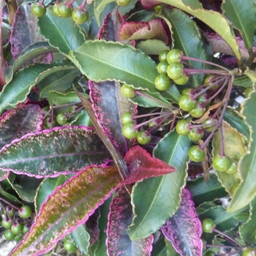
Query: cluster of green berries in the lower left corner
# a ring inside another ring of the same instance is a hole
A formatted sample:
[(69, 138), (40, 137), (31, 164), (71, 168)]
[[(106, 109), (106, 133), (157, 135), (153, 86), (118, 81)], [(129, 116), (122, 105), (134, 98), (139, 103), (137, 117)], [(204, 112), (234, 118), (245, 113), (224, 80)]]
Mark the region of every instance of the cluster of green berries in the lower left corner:
[(2, 227), (6, 229), (4, 237), (7, 240), (20, 241), (30, 230), (31, 224), (27, 219), (31, 215), (32, 210), (29, 206), (6, 206), (1, 219)]

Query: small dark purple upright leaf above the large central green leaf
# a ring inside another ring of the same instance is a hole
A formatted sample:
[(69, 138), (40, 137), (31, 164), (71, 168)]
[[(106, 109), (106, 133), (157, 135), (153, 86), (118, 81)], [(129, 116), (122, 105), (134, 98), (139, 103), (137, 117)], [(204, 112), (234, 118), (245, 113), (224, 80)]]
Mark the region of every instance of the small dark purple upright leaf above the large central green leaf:
[(118, 41), (118, 31), (121, 23), (124, 22), (118, 9), (108, 13), (103, 24), (99, 29), (98, 39), (105, 39), (106, 41)]

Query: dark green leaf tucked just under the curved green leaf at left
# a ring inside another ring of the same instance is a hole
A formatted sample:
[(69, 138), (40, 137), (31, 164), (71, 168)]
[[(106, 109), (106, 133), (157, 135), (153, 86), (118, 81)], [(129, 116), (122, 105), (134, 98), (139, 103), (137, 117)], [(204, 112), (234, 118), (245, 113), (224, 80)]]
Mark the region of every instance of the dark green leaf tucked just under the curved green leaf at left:
[(37, 84), (40, 98), (47, 98), (50, 91), (64, 92), (70, 89), (74, 78), (80, 74), (79, 69), (54, 72)]

